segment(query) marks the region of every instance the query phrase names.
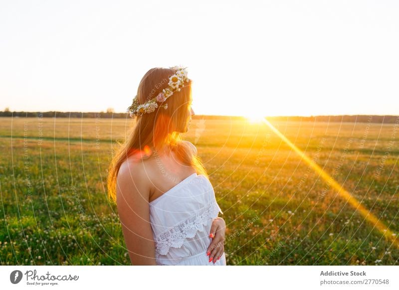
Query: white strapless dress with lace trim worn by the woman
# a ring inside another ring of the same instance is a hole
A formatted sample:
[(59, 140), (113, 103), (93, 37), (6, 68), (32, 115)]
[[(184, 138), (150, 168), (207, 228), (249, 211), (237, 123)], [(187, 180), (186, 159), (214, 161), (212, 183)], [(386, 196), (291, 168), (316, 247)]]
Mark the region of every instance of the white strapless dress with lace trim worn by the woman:
[(197, 173), (150, 202), (157, 265), (226, 265), (224, 252), (214, 264), (206, 255), (219, 212), (212, 184)]

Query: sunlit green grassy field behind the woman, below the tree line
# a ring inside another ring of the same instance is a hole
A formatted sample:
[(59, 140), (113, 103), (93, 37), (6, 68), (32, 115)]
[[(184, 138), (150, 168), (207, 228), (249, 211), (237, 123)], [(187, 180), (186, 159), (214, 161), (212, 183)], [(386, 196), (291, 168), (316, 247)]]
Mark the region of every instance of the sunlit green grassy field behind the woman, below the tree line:
[[(399, 124), (271, 123), (392, 238), (265, 124), (193, 120), (183, 136), (224, 212), (227, 265), (399, 265)], [(132, 126), (0, 118), (0, 265), (130, 265), (106, 176)]]

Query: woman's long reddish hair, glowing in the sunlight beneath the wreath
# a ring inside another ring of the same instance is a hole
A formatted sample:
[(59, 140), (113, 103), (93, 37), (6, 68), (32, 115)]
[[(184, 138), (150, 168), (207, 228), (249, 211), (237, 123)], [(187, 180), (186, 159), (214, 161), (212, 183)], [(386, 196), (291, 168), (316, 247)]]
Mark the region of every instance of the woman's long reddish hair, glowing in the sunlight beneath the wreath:
[[(176, 71), (169, 68), (152, 68), (142, 78), (137, 89), (140, 104), (154, 98), (168, 87), (169, 77)], [(132, 134), (124, 143), (118, 143), (115, 155), (109, 165), (107, 178), (108, 198), (116, 202), (116, 179), (122, 163), (131, 155), (139, 160), (150, 158), (154, 150), (169, 146), (180, 161), (194, 167), (198, 174), (208, 176), (199, 156), (195, 155), (191, 145), (182, 142), (180, 132), (186, 128), (190, 119), (192, 80), (185, 83), (180, 92), (174, 92), (166, 100), (168, 109), (158, 107), (155, 112), (136, 118)]]

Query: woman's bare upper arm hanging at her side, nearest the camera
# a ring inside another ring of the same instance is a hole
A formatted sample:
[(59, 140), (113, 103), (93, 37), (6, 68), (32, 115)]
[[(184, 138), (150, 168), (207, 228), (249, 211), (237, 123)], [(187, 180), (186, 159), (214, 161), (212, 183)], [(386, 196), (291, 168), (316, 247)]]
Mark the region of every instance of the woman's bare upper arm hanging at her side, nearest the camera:
[(142, 163), (124, 162), (116, 182), (116, 203), (133, 265), (156, 265), (150, 223), (148, 177)]

